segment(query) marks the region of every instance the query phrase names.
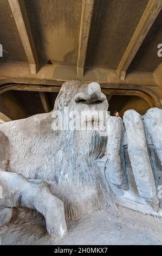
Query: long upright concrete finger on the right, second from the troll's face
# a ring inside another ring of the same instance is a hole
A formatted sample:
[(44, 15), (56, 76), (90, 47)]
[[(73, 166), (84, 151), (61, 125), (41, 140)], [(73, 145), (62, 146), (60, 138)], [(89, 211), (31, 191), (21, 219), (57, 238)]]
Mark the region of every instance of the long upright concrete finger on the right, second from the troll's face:
[(128, 154), (135, 182), (141, 197), (158, 210), (159, 200), (155, 189), (150, 159), (148, 156), (142, 117), (133, 109), (124, 113)]

